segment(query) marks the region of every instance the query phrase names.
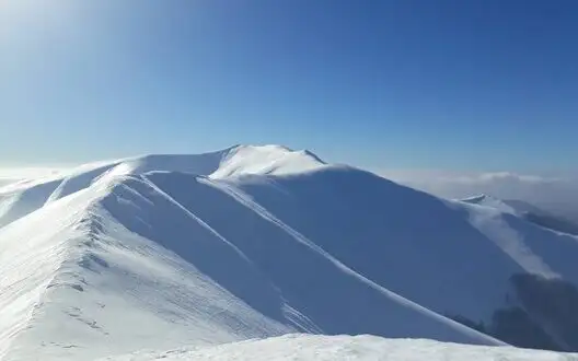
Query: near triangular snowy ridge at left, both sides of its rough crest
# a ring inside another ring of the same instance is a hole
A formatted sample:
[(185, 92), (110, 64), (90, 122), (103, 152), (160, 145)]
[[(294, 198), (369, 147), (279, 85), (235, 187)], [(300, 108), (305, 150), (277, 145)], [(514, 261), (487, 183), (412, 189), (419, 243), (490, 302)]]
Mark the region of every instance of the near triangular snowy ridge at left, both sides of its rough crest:
[[(31, 233), (30, 224), (39, 233), (30, 242), (32, 249), (2, 242), (15, 258), (1, 257), (0, 304), (7, 307), (0, 356), (91, 359), (152, 341), (170, 348), (185, 340), (203, 345), (294, 330), (255, 313), (192, 265), (114, 222), (99, 207), (104, 191), (90, 196), (54, 202), (31, 214), (41, 222), (25, 222), (26, 217), (0, 234), (2, 241), (19, 241)], [(45, 233), (54, 224), (42, 219), (55, 213), (74, 217), (56, 234)], [(159, 333), (166, 341), (157, 340)]]

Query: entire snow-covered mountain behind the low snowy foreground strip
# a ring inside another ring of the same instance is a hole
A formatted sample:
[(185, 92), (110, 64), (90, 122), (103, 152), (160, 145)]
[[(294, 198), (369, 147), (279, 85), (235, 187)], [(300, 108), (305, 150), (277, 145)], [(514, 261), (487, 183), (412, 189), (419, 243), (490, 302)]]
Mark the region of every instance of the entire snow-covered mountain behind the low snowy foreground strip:
[(308, 151), (93, 163), (0, 188), (0, 359), (292, 333), (578, 349), (577, 237)]

